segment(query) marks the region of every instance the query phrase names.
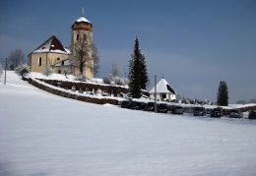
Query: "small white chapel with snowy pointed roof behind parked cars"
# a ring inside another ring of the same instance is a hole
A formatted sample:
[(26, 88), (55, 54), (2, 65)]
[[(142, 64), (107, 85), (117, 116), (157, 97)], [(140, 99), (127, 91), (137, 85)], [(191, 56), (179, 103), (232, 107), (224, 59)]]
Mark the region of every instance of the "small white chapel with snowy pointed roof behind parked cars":
[[(169, 86), (169, 84), (162, 78), (160, 82), (156, 86), (157, 91), (157, 99), (168, 99), (173, 100), (176, 99), (177, 92)], [(155, 99), (155, 87), (150, 90), (150, 97)]]

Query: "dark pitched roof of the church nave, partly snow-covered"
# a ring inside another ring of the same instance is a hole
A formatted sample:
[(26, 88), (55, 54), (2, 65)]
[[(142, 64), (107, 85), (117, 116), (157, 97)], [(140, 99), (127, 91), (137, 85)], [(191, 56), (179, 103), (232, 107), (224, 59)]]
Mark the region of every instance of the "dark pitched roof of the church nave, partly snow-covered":
[(37, 47), (32, 53), (43, 53), (43, 52), (70, 54), (70, 50), (65, 48), (55, 35), (52, 35), (51, 37), (49, 37), (39, 47)]

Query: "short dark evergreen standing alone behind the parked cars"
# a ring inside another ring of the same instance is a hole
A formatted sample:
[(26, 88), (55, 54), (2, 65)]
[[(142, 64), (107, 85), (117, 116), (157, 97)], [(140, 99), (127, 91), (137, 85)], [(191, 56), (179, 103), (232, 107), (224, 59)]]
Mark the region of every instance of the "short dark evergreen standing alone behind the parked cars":
[(228, 105), (228, 88), (225, 81), (220, 82), (219, 91), (217, 93), (217, 104), (221, 106)]

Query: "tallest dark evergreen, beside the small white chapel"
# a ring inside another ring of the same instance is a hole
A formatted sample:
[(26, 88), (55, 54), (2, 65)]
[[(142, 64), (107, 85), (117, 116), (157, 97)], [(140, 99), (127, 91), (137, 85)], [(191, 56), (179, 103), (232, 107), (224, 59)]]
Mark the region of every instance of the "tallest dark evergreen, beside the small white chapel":
[(142, 88), (146, 88), (149, 78), (145, 56), (139, 49), (139, 39), (136, 36), (134, 51), (129, 61), (129, 91), (132, 97), (141, 97)]

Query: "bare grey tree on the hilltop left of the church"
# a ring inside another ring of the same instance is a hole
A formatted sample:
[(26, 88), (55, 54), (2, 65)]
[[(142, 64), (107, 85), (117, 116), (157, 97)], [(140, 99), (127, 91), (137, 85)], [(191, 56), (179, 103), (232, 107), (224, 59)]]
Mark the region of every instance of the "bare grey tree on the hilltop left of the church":
[(8, 60), (10, 69), (14, 70), (19, 65), (25, 63), (25, 54), (21, 48), (16, 48), (11, 51), (10, 55), (8, 56)]

